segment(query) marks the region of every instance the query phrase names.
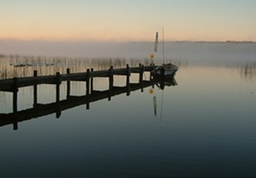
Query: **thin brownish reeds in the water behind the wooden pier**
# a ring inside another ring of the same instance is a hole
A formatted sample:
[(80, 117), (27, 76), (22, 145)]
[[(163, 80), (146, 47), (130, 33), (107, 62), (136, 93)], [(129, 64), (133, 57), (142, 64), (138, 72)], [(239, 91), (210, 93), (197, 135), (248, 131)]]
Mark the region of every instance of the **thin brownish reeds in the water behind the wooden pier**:
[[(180, 62), (166, 60), (180, 66)], [(161, 65), (161, 61), (154, 60), (155, 65)], [(126, 59), (126, 58), (87, 58), (87, 57), (66, 57), (66, 56), (20, 56), (0, 54), (0, 79), (12, 77), (29, 77), (33, 71), (40, 75), (52, 75), (59, 72), (66, 74), (66, 68), (72, 73), (84, 72), (87, 68), (94, 70), (105, 70), (111, 65), (113, 68), (125, 68), (126, 64), (131, 67), (150, 65), (151, 59)]]

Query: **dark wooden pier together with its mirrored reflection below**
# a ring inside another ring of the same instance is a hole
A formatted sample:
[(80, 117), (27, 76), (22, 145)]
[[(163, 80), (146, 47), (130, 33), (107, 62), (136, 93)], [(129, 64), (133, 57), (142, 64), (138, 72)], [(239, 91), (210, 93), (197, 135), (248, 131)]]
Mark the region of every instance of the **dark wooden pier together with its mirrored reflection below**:
[[(34, 71), (33, 77), (14, 77), (13, 79), (0, 80), (0, 91), (13, 92), (13, 112), (12, 113), (0, 113), (0, 126), (3, 125), (14, 125), (14, 130), (17, 130), (18, 122), (24, 120), (37, 118), (40, 116), (45, 116), (51, 113), (56, 113), (56, 117), (59, 118), (62, 110), (67, 110), (72, 107), (79, 106), (81, 104), (86, 104), (87, 109), (90, 109), (90, 103), (94, 101), (99, 101), (105, 98), (111, 100), (114, 95), (120, 95), (126, 93), (130, 95), (130, 92), (135, 90), (143, 89), (148, 86), (154, 86), (155, 83), (159, 81), (155, 80), (143, 80), (144, 72), (150, 72), (155, 66), (144, 66), (139, 65), (139, 67), (130, 68), (126, 65), (126, 68), (114, 69), (112, 66), (108, 70), (104, 71), (94, 71), (92, 69), (87, 69), (84, 73), (70, 74), (69, 68), (66, 74), (50, 75), (50, 76), (38, 76), (37, 71)], [(132, 73), (139, 74), (138, 83), (130, 83), (130, 75)], [(117, 87), (114, 86), (114, 75), (124, 75), (126, 76), (126, 86)], [(104, 91), (96, 91), (93, 89), (93, 78), (95, 77), (108, 77), (109, 87)], [(59, 100), (59, 86), (66, 81), (67, 93), (66, 99)], [(83, 96), (72, 96), (71, 93), (71, 81), (84, 81), (86, 83), (86, 95)], [(40, 84), (52, 84), (56, 85), (56, 102), (50, 104), (38, 104), (38, 85)], [(33, 107), (27, 110), (17, 110), (17, 96), (19, 88), (33, 86)]]

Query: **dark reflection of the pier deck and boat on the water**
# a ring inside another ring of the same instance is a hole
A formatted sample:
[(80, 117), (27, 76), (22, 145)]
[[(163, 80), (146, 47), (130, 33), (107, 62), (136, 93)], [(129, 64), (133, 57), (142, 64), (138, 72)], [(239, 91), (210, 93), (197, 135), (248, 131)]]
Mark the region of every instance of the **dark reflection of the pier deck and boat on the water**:
[(67, 95), (66, 99), (62, 101), (56, 101), (50, 104), (34, 104), (32, 108), (20, 111), (14, 111), (13, 113), (0, 113), (0, 127), (4, 125), (13, 125), (14, 130), (18, 129), (18, 122), (23, 122), (29, 119), (39, 118), (49, 114), (56, 113), (56, 118), (61, 116), (63, 110), (69, 110), (73, 107), (78, 107), (86, 104), (87, 110), (90, 109), (90, 103), (100, 101), (108, 98), (111, 101), (111, 97), (126, 93), (127, 96), (130, 92), (144, 88), (154, 86), (164, 89), (165, 86), (177, 85), (174, 75), (165, 79), (151, 79), (142, 80), (139, 83), (128, 83), (126, 86), (112, 86), (105, 91), (92, 90), (88, 95), (73, 96)]

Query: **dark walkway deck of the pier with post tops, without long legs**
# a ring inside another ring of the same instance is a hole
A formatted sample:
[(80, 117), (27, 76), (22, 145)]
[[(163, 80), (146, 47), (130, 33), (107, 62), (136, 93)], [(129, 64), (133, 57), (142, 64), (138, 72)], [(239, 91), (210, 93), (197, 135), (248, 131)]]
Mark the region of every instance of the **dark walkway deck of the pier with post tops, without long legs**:
[(131, 73), (138, 73), (140, 80), (142, 80), (143, 73), (145, 71), (151, 71), (153, 68), (153, 65), (139, 65), (139, 67), (135, 68), (130, 68), (129, 65), (126, 65), (126, 68), (116, 69), (111, 66), (111, 68), (105, 71), (93, 71), (93, 69), (87, 69), (87, 71), (84, 73), (75, 74), (70, 74), (68, 68), (67, 74), (59, 74), (59, 72), (56, 72), (56, 75), (49, 76), (38, 76), (37, 72), (34, 71), (33, 77), (14, 77), (13, 79), (0, 80), (0, 91), (15, 92), (21, 87), (34, 86), (39, 84), (59, 85), (62, 83), (62, 81), (85, 81), (90, 83), (90, 79), (93, 79), (93, 77), (109, 77), (109, 81), (111, 82), (114, 75), (126, 75), (127, 80), (129, 81)]

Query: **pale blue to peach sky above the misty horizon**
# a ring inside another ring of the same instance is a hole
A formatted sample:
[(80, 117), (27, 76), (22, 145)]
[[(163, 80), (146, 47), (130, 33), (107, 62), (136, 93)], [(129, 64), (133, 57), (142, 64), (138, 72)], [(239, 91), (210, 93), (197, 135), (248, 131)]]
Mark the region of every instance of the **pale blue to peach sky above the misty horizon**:
[(255, 0), (0, 0), (0, 39), (256, 41)]

